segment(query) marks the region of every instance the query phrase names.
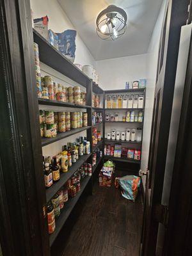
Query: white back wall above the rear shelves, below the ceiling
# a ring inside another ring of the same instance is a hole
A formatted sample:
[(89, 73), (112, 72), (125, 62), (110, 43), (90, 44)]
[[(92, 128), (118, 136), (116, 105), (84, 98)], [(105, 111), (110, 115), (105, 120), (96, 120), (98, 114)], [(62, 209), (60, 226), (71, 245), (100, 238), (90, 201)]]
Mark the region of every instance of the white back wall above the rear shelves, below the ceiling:
[(96, 61), (96, 69), (104, 90), (125, 89), (127, 81), (147, 77), (147, 54)]

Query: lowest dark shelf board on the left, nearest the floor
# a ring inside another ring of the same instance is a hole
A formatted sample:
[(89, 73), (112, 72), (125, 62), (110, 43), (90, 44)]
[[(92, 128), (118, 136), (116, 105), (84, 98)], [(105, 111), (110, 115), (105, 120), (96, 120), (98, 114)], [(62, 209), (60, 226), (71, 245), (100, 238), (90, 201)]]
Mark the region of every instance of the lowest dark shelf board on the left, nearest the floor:
[(50, 246), (52, 246), (52, 243), (60, 233), (61, 228), (65, 224), (65, 221), (67, 220), (70, 213), (72, 212), (72, 209), (74, 209), (74, 206), (77, 204), (77, 201), (82, 195), (90, 179), (91, 179), (91, 176), (84, 178), (81, 182), (81, 191), (79, 191), (79, 193), (77, 193), (77, 195), (74, 198), (70, 198), (70, 200), (68, 200), (68, 202), (64, 205), (63, 210), (61, 211), (60, 217), (58, 218), (58, 220), (56, 220), (56, 230), (53, 234), (49, 236)]

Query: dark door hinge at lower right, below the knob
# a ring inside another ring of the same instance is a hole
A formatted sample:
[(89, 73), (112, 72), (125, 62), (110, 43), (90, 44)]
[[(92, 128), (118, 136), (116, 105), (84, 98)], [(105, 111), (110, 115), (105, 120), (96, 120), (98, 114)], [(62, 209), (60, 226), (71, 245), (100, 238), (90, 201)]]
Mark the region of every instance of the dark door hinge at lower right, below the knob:
[(156, 205), (154, 207), (154, 219), (166, 227), (168, 224), (168, 205)]

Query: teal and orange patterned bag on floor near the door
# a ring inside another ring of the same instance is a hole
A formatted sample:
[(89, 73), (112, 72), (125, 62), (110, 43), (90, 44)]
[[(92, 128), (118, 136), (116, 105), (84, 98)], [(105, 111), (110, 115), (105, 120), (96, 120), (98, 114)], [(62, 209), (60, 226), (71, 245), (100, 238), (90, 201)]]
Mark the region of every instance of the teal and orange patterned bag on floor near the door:
[(122, 189), (122, 196), (125, 198), (135, 201), (138, 195), (138, 188), (140, 187), (140, 177), (134, 175), (126, 175), (121, 178), (115, 179), (115, 188)]

